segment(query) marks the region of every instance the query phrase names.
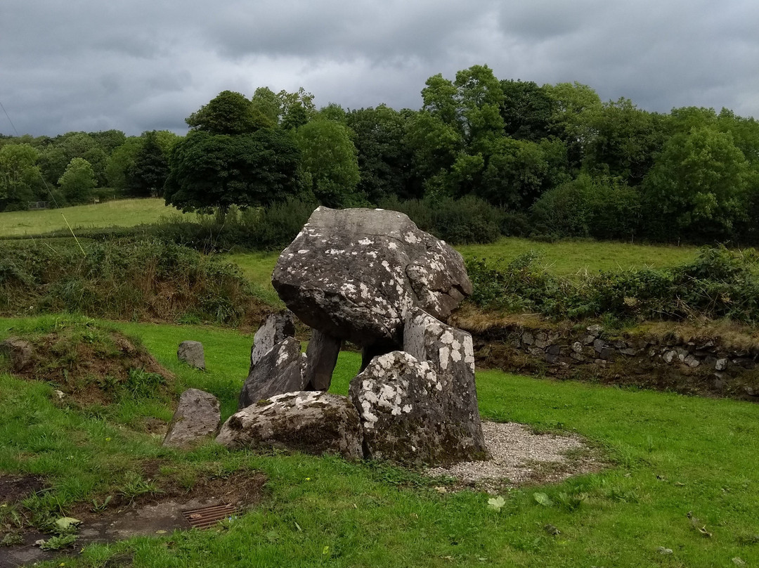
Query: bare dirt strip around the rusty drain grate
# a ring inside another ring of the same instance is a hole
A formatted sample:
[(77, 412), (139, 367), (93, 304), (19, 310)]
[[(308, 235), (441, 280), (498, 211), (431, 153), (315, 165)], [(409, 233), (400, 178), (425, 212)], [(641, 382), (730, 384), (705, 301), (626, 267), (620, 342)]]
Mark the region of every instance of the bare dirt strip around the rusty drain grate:
[[(157, 460), (143, 465), (146, 469), (156, 471), (160, 467)], [(69, 513), (82, 521), (74, 547), (67, 551), (43, 551), (35, 543), (50, 538), (50, 535), (26, 532), (20, 535), (24, 544), (0, 547), (0, 568), (53, 560), (61, 554), (78, 554), (77, 551), (83, 546), (95, 542), (165, 535), (177, 529), (190, 529), (182, 512), (203, 506), (230, 503), (242, 512), (263, 500), (265, 481), (265, 476), (257, 472), (236, 472), (227, 477), (201, 478), (189, 489), (183, 489), (169, 480), (160, 485), (159, 493), (143, 494), (131, 500), (115, 496), (102, 512), (93, 511), (92, 503), (81, 503)], [(130, 565), (130, 559), (124, 558), (124, 563)]]

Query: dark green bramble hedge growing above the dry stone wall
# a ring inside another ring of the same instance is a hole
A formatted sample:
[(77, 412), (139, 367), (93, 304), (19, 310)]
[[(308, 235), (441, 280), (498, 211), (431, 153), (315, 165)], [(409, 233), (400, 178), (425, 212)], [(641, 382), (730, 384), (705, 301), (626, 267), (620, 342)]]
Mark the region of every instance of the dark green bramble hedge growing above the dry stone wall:
[(729, 318), (759, 322), (759, 257), (753, 249), (704, 248), (691, 263), (662, 270), (601, 272), (580, 282), (548, 273), (534, 252), (505, 266), (467, 263), (474, 284), (470, 301), (505, 311), (534, 311), (555, 318), (619, 320)]

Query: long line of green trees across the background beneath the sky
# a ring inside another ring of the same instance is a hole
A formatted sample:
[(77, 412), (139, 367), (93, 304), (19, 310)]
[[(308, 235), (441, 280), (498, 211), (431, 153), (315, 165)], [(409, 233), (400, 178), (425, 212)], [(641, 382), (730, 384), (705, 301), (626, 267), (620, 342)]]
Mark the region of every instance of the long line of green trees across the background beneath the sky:
[[(639, 109), (586, 85), (437, 74), (418, 110), (321, 109), (303, 89), (223, 91), (185, 137), (119, 131), (0, 139), (0, 210), (98, 188), (183, 210), (329, 207), (467, 198), (505, 234), (653, 241), (759, 240), (759, 124), (728, 109)], [(412, 207), (412, 208), (413, 208)]]

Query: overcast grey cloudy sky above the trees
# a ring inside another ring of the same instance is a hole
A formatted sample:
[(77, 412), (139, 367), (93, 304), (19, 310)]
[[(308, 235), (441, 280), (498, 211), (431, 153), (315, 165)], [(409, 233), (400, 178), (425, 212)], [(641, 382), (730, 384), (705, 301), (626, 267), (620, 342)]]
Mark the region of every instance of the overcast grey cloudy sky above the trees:
[[(183, 134), (220, 91), (262, 86), (418, 109), (427, 77), (477, 64), (759, 118), (759, 2), (0, 0), (0, 103), (35, 136)], [(0, 133), (14, 134), (2, 112)]]

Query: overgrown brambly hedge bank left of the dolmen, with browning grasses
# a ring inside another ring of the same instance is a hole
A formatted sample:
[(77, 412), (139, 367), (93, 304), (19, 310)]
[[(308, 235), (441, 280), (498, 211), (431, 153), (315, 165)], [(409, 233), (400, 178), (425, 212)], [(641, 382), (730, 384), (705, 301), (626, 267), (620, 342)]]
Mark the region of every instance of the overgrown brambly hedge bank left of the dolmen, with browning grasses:
[(239, 268), (157, 240), (53, 245), (5, 242), (0, 313), (78, 312), (112, 319), (238, 323), (260, 309)]

